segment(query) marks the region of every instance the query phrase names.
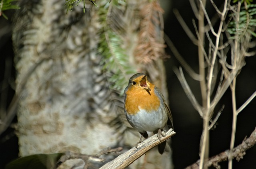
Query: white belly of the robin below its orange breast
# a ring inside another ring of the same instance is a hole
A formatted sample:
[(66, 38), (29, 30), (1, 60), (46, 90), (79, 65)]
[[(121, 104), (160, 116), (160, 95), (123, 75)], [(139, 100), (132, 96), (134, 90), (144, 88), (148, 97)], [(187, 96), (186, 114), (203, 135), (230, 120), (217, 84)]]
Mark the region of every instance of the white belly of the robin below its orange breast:
[(166, 125), (168, 117), (165, 111), (165, 108), (161, 108), (161, 106), (157, 111), (150, 113), (146, 112), (144, 109), (140, 109), (136, 115), (126, 113), (126, 117), (131, 126), (139, 132), (154, 132), (164, 128)]

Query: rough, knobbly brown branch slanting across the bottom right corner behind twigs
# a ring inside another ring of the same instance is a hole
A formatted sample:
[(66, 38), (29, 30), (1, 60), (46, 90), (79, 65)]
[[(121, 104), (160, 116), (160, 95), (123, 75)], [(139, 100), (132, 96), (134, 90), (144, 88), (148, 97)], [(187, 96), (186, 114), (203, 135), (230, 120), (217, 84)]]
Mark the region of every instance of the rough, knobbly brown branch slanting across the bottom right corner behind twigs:
[[(233, 151), (230, 153), (230, 157), (236, 158), (236, 160), (240, 160), (245, 155), (246, 150), (250, 149), (253, 145), (256, 144), (256, 128), (252, 132), (249, 138), (245, 139), (241, 144), (236, 146)], [(218, 163), (222, 161), (226, 161), (228, 159), (228, 153), (229, 150), (223, 151), (219, 153), (218, 155), (214, 155), (213, 157), (210, 157), (207, 163), (207, 166), (214, 166), (218, 167)], [(186, 167), (186, 169), (198, 169), (200, 160), (196, 161), (196, 163)]]

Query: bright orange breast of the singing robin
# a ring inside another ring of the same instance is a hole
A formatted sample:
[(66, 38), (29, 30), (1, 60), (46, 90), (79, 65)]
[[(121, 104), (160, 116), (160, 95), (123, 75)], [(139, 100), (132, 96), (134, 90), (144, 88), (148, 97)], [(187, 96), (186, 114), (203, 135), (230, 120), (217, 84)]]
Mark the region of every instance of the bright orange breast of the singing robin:
[(144, 109), (148, 113), (153, 110), (158, 110), (160, 100), (154, 92), (154, 86), (150, 88), (151, 91), (147, 91), (140, 87), (131, 87), (126, 91), (126, 101), (124, 106), (127, 113), (137, 114), (140, 109)]

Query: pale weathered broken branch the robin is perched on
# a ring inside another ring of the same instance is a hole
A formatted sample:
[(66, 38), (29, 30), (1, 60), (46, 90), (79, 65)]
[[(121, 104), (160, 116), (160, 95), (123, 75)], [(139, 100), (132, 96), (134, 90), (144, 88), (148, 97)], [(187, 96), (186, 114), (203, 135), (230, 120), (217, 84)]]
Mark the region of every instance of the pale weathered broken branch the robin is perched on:
[[(174, 136), (176, 133), (172, 131), (172, 129), (168, 130), (166, 133), (166, 136), (161, 137), (161, 142), (166, 141), (170, 139), (172, 136)], [(114, 160), (106, 163), (100, 169), (123, 169), (128, 167), (131, 163), (133, 163), (136, 159), (144, 155), (148, 150), (152, 149), (156, 145), (159, 144), (159, 139), (157, 134), (154, 136), (144, 140), (142, 143), (140, 143), (137, 148), (133, 147), (132, 149), (126, 151), (126, 153), (123, 153), (116, 157)]]

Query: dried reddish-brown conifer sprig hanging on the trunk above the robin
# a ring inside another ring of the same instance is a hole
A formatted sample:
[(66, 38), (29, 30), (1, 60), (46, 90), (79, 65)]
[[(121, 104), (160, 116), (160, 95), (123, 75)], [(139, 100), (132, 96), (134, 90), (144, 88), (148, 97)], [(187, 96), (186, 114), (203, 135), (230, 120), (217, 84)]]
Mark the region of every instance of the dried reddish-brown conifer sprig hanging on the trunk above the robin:
[(159, 18), (163, 12), (163, 9), (155, 1), (149, 2), (140, 11), (142, 20), (138, 37), (139, 45), (134, 51), (134, 55), (140, 63), (151, 63), (159, 58), (166, 57), (164, 54), (166, 45), (158, 41), (159, 31), (162, 31), (159, 30), (162, 27)]

